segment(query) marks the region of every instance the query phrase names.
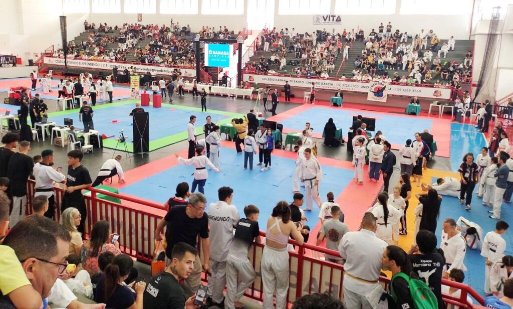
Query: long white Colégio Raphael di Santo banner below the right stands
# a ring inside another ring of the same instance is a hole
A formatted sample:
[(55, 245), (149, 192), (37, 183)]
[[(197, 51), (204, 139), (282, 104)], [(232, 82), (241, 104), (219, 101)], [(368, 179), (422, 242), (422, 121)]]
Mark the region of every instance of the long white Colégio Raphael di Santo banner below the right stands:
[[(369, 86), (374, 82), (357, 82), (352, 80), (320, 80), (320, 79), (307, 79), (307, 78), (294, 78), (287, 76), (274, 76), (274, 75), (259, 75), (244, 73), (244, 82), (264, 84), (264, 85), (285, 85), (288, 81), (291, 87), (310, 88), (312, 83), (315, 89), (328, 89), (328, 90), (342, 90), (349, 92), (368, 93)], [(419, 98), (450, 100), (450, 88), (436, 88), (436, 87), (422, 87), (422, 86), (407, 86), (407, 85), (391, 85), (388, 84), (386, 88), (388, 95), (404, 95), (404, 96), (418, 96)]]

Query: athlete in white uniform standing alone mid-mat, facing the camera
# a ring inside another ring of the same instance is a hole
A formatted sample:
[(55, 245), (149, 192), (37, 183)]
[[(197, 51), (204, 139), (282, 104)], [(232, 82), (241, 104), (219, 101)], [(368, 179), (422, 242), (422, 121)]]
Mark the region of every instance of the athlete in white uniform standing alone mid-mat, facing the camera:
[(321, 164), (313, 157), (310, 148), (305, 149), (305, 160), (301, 162), (299, 178), (305, 184), (306, 208), (312, 210), (312, 200), (321, 207), (321, 198), (319, 197), (319, 181), (323, 179)]

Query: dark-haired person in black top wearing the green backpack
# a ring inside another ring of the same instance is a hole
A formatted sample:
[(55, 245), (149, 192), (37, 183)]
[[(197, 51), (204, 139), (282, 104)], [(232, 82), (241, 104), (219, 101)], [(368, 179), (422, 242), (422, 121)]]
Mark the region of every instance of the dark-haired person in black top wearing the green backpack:
[[(414, 308), (408, 287), (411, 263), (408, 254), (398, 246), (388, 246), (383, 252), (383, 269), (392, 272), (388, 286), (388, 308)], [(435, 303), (436, 307), (438, 304)], [(434, 308), (433, 307), (433, 308)]]

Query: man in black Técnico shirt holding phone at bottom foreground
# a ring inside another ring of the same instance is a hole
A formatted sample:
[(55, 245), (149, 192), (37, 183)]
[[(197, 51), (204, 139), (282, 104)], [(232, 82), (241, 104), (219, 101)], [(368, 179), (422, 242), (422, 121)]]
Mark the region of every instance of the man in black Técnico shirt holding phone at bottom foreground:
[[(171, 253), (171, 264), (166, 271), (151, 278), (144, 291), (143, 307), (161, 309), (200, 308), (193, 305), (195, 295), (187, 299), (180, 281), (192, 273), (198, 250), (183, 242), (176, 243)], [(186, 300), (187, 299), (187, 300)]]

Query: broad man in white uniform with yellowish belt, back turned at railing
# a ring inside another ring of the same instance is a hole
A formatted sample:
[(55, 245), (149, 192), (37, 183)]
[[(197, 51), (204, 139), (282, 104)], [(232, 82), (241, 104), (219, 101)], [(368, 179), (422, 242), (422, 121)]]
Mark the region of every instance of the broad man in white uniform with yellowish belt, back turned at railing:
[(340, 256), (346, 260), (343, 288), (347, 308), (372, 309), (380, 301), (381, 293), (376, 291), (383, 291), (379, 278), (387, 243), (376, 237), (376, 220), (365, 213), (361, 230), (347, 232), (339, 244)]

